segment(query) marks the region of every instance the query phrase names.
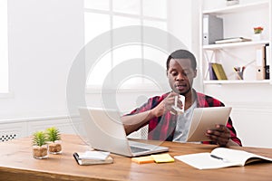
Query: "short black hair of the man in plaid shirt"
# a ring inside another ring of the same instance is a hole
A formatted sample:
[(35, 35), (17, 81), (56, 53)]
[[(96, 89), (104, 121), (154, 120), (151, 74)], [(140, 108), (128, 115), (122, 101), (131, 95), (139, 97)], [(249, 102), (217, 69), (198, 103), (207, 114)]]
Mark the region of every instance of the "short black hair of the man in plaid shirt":
[(170, 53), (166, 62), (167, 71), (169, 70), (169, 63), (171, 59), (189, 59), (191, 68), (193, 70), (197, 69), (197, 61), (195, 55), (187, 50), (177, 50), (175, 52)]

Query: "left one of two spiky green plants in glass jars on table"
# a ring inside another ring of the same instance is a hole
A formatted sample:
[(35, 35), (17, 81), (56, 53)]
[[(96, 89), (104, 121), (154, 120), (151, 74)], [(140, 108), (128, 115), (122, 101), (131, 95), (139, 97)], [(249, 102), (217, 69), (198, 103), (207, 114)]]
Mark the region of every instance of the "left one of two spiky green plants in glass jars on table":
[(33, 157), (39, 159), (48, 157), (47, 138), (44, 131), (36, 131), (33, 134)]

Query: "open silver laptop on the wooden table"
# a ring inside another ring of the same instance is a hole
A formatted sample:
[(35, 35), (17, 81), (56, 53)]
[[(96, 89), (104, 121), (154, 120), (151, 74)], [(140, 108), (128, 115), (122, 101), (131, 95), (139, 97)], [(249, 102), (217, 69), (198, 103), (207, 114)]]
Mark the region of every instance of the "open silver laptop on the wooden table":
[(92, 148), (125, 157), (138, 157), (169, 151), (169, 148), (131, 141), (127, 138), (120, 112), (100, 108), (79, 108)]

